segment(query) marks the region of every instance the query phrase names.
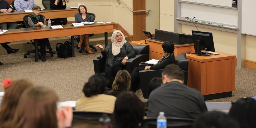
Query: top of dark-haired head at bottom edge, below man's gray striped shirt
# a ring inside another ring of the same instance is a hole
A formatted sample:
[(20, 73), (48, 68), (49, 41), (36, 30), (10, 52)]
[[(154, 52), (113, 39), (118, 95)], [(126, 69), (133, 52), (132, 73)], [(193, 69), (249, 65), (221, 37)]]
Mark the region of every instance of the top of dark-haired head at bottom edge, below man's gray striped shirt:
[(209, 111), (201, 114), (193, 128), (239, 128), (237, 123), (227, 114), (219, 111)]

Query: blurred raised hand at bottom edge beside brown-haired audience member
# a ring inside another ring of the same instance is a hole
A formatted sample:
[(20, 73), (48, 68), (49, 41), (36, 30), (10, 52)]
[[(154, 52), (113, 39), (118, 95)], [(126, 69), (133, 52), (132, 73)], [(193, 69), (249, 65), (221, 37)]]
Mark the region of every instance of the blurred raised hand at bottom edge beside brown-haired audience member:
[(73, 110), (71, 107), (66, 106), (60, 108), (57, 112), (58, 128), (71, 127), (73, 119)]

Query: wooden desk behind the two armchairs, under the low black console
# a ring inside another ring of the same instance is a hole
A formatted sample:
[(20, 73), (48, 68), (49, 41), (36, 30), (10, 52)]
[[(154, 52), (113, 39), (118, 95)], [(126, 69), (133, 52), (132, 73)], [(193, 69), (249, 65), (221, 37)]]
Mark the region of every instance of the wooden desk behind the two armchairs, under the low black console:
[[(142, 44), (138, 44), (142, 42)], [(146, 45), (145, 40), (140, 41), (131, 41), (133, 45)], [(149, 59), (161, 59), (164, 56), (161, 41), (146, 39), (147, 45), (149, 45)], [(176, 57), (180, 53), (186, 52), (195, 52), (194, 44), (183, 44), (183, 45), (174, 45), (174, 56)]]

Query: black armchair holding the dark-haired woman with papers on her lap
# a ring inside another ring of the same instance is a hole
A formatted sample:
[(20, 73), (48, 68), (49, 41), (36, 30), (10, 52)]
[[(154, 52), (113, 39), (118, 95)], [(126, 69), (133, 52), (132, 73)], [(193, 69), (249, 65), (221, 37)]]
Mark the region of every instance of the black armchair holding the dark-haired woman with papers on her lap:
[[(181, 53), (175, 57), (176, 64), (184, 73), (184, 84), (187, 85), (188, 80), (188, 60), (185, 53)], [(140, 86), (144, 98), (148, 98), (148, 84), (154, 77), (162, 77), (162, 69), (159, 70), (142, 70), (139, 71)]]

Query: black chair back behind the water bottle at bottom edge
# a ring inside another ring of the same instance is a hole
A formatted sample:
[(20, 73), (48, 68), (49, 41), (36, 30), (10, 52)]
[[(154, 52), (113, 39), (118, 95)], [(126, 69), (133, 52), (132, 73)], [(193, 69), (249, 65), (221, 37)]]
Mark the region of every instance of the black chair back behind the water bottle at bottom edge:
[[(143, 119), (142, 128), (156, 128), (157, 118)], [(194, 119), (167, 117), (167, 128), (191, 128), (195, 122)]]

